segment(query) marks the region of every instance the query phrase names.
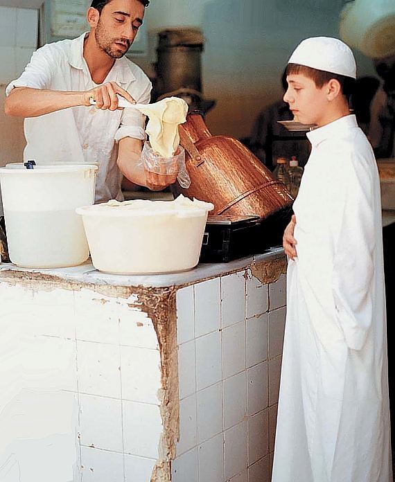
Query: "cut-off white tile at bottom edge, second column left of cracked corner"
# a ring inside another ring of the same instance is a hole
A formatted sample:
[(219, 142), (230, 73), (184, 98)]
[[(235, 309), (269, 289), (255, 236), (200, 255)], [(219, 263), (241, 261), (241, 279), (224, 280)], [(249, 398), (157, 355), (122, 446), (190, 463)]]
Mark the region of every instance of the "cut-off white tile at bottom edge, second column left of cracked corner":
[(123, 482), (123, 455), (82, 447), (82, 482)]

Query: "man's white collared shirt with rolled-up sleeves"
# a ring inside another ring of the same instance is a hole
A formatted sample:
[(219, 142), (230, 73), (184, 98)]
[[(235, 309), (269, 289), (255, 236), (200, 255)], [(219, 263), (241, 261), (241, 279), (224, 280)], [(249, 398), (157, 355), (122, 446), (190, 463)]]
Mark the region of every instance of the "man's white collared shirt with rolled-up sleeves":
[[(39, 48), (13, 87), (59, 91), (86, 91), (96, 84), (82, 55), (85, 35)], [(117, 82), (142, 104), (150, 102), (150, 80), (133, 62), (117, 59), (105, 82)], [(96, 107), (72, 107), (36, 118), (26, 118), (27, 145), (24, 160), (99, 163), (96, 202), (122, 200), (121, 172), (116, 166), (119, 141), (123, 137), (145, 139), (144, 116), (137, 110), (102, 111)]]

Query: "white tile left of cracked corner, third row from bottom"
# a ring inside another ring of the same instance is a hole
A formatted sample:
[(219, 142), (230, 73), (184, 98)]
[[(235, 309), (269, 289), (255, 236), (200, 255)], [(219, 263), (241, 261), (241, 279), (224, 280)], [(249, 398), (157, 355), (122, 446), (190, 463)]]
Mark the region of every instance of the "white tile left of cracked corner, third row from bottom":
[(121, 346), (121, 380), (123, 400), (159, 405), (161, 389), (159, 350)]

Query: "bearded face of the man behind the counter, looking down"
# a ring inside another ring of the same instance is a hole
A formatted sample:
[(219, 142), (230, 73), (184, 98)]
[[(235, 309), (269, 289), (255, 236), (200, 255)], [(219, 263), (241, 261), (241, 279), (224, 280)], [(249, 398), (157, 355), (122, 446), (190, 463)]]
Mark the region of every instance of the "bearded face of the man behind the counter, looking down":
[(119, 59), (128, 52), (143, 24), (144, 6), (138, 0), (112, 0), (100, 13), (94, 35), (98, 47)]

